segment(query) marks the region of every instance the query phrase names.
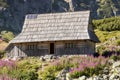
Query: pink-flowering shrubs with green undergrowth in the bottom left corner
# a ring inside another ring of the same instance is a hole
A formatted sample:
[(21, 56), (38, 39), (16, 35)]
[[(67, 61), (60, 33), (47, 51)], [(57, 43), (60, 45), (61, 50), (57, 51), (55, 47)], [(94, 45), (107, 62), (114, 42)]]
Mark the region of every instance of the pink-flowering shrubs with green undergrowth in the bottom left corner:
[[(31, 66), (32, 69), (24, 67), (18, 67), (18, 62), (11, 61), (11, 60), (0, 60), (0, 80), (37, 80), (38, 74), (34, 68), (36, 66)], [(29, 66), (29, 65), (22, 65), (22, 66)]]

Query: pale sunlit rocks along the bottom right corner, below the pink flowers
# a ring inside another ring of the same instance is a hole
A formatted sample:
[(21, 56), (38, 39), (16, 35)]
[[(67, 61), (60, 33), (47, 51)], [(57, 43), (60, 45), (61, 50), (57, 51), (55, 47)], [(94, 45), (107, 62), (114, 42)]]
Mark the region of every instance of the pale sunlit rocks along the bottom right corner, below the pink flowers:
[(111, 66), (105, 67), (98, 76), (81, 76), (78, 79), (71, 79), (68, 70), (63, 70), (58, 74), (56, 80), (120, 80), (120, 61), (109, 60)]

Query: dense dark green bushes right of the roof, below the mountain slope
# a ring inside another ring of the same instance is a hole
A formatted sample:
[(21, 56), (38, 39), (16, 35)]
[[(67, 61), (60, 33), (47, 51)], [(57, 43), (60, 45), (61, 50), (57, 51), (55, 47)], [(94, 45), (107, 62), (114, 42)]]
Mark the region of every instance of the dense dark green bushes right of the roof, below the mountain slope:
[(101, 31), (120, 30), (120, 17), (112, 17), (101, 20), (93, 20), (93, 26)]

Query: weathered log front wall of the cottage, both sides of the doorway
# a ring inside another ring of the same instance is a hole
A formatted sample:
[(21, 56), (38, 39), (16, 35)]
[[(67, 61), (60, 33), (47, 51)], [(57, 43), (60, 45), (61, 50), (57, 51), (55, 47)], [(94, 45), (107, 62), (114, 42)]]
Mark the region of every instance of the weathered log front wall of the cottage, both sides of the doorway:
[(50, 54), (50, 43), (54, 43), (54, 55), (95, 53), (95, 43), (85, 40), (14, 44), (14, 46), (8, 51), (8, 56), (44, 56)]

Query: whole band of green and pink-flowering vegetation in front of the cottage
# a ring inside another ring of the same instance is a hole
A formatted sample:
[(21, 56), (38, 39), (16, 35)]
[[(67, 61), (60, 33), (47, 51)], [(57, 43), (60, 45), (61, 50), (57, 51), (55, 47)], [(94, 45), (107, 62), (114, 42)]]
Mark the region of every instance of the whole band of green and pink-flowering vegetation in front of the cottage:
[[(110, 58), (120, 60), (120, 56)], [(78, 78), (83, 75), (91, 77), (101, 73), (106, 66), (109, 66), (108, 58), (101, 56), (98, 58), (93, 56), (66, 56), (45, 62), (33, 57), (20, 61), (0, 60), (0, 78), (10, 80), (55, 80), (63, 69), (69, 70), (71, 78)]]

